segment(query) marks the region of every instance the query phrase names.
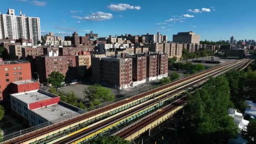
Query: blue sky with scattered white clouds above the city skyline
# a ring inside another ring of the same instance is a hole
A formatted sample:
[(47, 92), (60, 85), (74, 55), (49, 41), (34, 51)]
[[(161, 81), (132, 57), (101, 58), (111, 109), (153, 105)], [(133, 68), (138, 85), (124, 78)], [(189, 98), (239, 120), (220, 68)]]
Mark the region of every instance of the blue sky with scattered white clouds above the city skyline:
[(42, 35), (172, 35), (194, 31), (201, 40), (256, 39), (255, 0), (5, 0), (8, 8), (40, 17)]

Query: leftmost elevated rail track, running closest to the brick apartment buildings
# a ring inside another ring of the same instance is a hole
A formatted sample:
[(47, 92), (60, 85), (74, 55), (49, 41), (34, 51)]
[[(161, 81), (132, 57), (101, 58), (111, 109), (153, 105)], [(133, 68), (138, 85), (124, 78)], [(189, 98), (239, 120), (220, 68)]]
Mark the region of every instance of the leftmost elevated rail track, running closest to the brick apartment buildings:
[[(244, 61), (246, 61), (246, 60), (240, 60), (237, 63), (243, 63)], [(232, 63), (232, 64), (235, 64), (235, 63)], [(146, 96), (155, 97), (155, 94), (157, 95), (157, 93), (158, 94), (165, 93), (167, 91), (170, 91), (171, 88), (173, 88), (173, 89), (177, 88), (181, 85), (189, 83), (189, 81), (195, 80), (195, 78), (200, 78), (203, 75), (207, 75), (208, 73), (214, 72), (214, 71), (219, 70), (219, 69), (221, 69), (223, 67), (226, 67), (228, 65), (230, 65), (230, 64), (225, 64), (225, 65), (221, 65), (221, 66), (218, 66), (218, 67), (214, 67), (212, 69), (208, 69), (208, 70), (206, 70), (204, 72), (201, 72), (201, 73), (198, 73), (196, 75), (186, 77), (184, 79), (178, 80), (176, 82), (173, 82), (173, 83), (170, 83), (170, 84), (167, 84), (167, 85), (163, 85), (159, 88), (155, 88), (155, 89), (147, 91), (145, 93), (141, 93), (137, 96), (132, 96), (128, 99), (118, 101), (114, 104), (110, 104), (108, 106), (93, 110), (91, 112), (79, 115), (77, 117), (70, 118), (69, 120), (64, 120), (60, 123), (55, 123), (53, 125), (49, 125), (45, 128), (38, 129), (37, 131), (33, 131), (33, 132), (30, 132), (30, 133), (21, 135), (19, 137), (16, 137), (14, 139), (4, 141), (3, 143), (4, 144), (16, 144), (16, 143), (20, 144), (20, 143), (29, 143), (29, 142), (37, 141), (39, 139), (43, 139), (45, 136), (49, 136), (53, 133), (58, 133), (59, 131), (63, 131), (65, 129), (67, 129), (67, 126), (69, 128), (71, 128), (74, 125), (78, 125), (78, 124), (82, 123), (81, 122), (82, 120), (83, 120), (83, 122), (85, 122), (86, 120), (92, 120), (94, 118), (96, 119), (96, 117), (99, 117), (101, 115), (106, 115), (109, 112), (115, 111), (115, 109), (117, 109), (117, 108), (120, 108), (120, 107), (122, 108), (125, 105), (127, 105), (128, 103), (134, 102), (138, 99), (141, 100), (141, 99), (145, 98)], [(186, 83), (184, 83), (184, 82), (186, 82)], [(166, 90), (167, 88), (169, 88), (169, 90)], [(159, 91), (161, 93), (159, 93)], [(139, 104), (139, 102), (138, 102), (138, 104)]]

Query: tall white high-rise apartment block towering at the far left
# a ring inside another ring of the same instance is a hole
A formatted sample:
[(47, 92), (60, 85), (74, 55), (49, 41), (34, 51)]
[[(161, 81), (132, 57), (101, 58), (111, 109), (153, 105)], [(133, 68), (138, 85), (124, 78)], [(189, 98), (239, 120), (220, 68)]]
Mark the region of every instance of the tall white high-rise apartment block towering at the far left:
[(15, 16), (14, 9), (0, 15), (0, 39), (31, 39), (33, 45), (41, 40), (40, 18), (27, 17), (24, 14)]

